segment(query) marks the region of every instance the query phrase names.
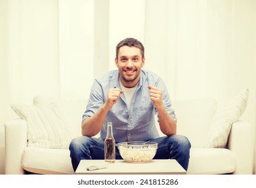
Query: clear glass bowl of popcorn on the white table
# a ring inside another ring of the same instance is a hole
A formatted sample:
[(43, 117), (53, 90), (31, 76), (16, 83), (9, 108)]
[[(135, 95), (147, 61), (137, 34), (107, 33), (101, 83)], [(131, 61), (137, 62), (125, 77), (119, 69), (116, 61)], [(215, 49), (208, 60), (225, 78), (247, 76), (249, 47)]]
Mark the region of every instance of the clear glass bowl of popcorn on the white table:
[(156, 154), (158, 143), (156, 142), (119, 142), (119, 153), (126, 162), (143, 163), (150, 162)]

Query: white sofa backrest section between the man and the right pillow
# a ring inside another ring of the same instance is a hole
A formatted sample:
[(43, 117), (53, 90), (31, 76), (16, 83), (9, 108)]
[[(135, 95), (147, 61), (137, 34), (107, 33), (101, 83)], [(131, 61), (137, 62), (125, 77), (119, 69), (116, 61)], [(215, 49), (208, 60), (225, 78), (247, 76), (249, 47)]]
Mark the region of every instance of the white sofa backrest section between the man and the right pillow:
[(189, 138), (191, 147), (203, 147), (217, 109), (215, 99), (172, 101), (177, 115), (177, 134)]

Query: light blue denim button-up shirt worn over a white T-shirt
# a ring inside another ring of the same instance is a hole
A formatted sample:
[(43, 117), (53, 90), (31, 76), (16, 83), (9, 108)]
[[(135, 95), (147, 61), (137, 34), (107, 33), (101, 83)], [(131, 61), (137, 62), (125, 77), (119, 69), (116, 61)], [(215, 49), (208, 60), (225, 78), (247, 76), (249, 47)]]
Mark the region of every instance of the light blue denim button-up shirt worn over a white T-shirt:
[[(155, 125), (158, 111), (150, 99), (148, 85), (162, 89), (164, 105), (168, 113), (172, 115), (172, 118), (177, 121), (174, 110), (171, 109), (170, 97), (162, 79), (151, 71), (141, 70), (139, 85), (131, 99), (130, 110), (128, 111), (127, 109), (125, 96), (121, 94), (117, 103), (113, 105), (106, 115), (106, 120), (100, 131), (102, 140), (106, 137), (107, 122), (113, 123), (113, 134), (116, 142), (146, 141), (159, 137), (156, 130), (156, 126), (159, 125)], [(82, 121), (94, 115), (102, 107), (106, 101), (108, 89), (114, 87), (121, 88), (118, 70), (109, 71), (106, 75), (94, 81)]]

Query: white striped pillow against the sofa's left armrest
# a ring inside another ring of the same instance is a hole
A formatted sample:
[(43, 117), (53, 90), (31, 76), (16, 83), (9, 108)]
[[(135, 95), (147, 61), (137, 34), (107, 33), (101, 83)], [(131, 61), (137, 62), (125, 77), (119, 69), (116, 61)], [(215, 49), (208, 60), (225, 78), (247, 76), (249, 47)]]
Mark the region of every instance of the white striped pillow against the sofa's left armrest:
[(40, 148), (68, 148), (71, 137), (67, 125), (51, 105), (12, 104), (11, 108), (28, 123), (28, 146)]

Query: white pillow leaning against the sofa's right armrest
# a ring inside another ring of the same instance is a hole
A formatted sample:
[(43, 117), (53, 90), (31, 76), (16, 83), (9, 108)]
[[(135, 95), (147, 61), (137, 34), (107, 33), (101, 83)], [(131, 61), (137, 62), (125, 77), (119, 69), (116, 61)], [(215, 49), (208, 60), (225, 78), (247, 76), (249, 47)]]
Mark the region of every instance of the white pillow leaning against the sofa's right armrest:
[(248, 95), (249, 89), (243, 89), (216, 113), (205, 142), (205, 148), (226, 148), (232, 124), (245, 111)]

